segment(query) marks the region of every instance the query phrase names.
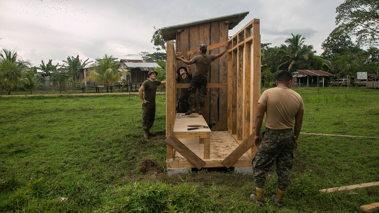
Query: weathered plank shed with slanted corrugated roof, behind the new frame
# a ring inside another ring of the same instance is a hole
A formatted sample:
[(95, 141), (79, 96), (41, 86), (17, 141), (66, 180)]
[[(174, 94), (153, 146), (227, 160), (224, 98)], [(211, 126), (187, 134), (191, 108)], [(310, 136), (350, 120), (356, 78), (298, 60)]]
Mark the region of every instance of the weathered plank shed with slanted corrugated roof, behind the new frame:
[[(219, 47), (224, 46), (228, 40), (228, 31), (240, 23), (248, 13), (243, 12), (165, 27), (161, 29), (162, 35), (166, 41), (176, 40), (176, 52), (185, 53), (193, 50), (188, 56), (185, 56), (187, 60), (198, 54), (199, 45), (203, 43), (208, 46), (207, 54), (217, 54), (223, 50)], [(181, 61), (174, 63), (178, 68), (187, 66)], [(192, 70), (195, 71), (194, 65), (192, 65)], [(214, 126), (227, 113), (227, 57), (223, 56), (212, 62), (208, 83), (216, 84), (210, 84), (215, 86), (208, 87), (203, 117), (209, 126)], [(224, 86), (221, 86), (220, 83), (224, 83)], [(226, 130), (226, 125), (223, 126), (223, 129)]]

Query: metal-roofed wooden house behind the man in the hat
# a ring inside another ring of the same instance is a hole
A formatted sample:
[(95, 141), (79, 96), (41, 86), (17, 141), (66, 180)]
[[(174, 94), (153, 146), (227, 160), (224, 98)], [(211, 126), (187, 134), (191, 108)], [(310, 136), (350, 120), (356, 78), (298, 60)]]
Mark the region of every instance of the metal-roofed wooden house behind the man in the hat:
[[(128, 71), (130, 76), (123, 75), (122, 81), (127, 81), (133, 90), (133, 84), (136, 90), (147, 79), (147, 73), (154, 70), (155, 67), (162, 68), (154, 60), (131, 60), (121, 59), (119, 71)], [(137, 85), (139, 86), (137, 87)]]

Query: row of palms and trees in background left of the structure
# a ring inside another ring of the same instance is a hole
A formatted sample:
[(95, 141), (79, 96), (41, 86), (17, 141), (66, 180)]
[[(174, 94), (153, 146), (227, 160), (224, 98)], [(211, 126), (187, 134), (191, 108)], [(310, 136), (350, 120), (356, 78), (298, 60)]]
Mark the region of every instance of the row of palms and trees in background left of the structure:
[[(67, 57), (67, 60), (62, 61), (62, 65), (59, 63), (53, 65), (52, 59), (46, 64), (41, 60), (38, 67), (31, 67), (29, 62), (19, 60), (17, 56), (15, 50), (0, 50), (0, 95), (4, 93), (10, 95), (11, 90), (20, 86), (32, 94), (38, 86), (42, 85), (45, 75), (50, 76), (50, 81), (58, 87), (59, 92), (62, 92), (66, 86), (76, 87), (82, 82), (104, 85), (106, 91), (109, 92), (109, 86), (121, 81), (123, 74), (129, 75), (127, 71), (119, 72), (118, 59), (107, 54), (103, 58), (96, 59), (95, 62), (89, 61), (88, 58), (82, 61), (79, 55)], [(84, 68), (89, 71), (82, 82), (79, 82), (80, 70)]]

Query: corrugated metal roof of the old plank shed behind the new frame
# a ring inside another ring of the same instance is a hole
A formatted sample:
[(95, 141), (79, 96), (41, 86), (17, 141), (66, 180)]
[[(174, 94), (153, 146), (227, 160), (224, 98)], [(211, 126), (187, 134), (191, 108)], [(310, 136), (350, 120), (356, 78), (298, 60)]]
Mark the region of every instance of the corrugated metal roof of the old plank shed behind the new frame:
[(209, 18), (209, 19), (204, 19), (200, 21), (194, 21), (194, 22), (189, 22), (185, 24), (178, 24), (178, 25), (173, 25), (170, 27), (163, 27), (161, 28), (162, 30), (162, 35), (163, 39), (165, 41), (169, 40), (174, 40), (176, 39), (176, 31), (183, 29), (183, 28), (188, 28), (191, 26), (196, 26), (196, 25), (201, 25), (201, 24), (206, 24), (214, 21), (229, 21), (229, 30), (232, 30), (237, 24), (243, 20), (249, 14), (250, 11), (246, 11), (243, 13), (236, 13), (228, 16), (220, 16), (220, 17), (215, 17), (215, 18)]

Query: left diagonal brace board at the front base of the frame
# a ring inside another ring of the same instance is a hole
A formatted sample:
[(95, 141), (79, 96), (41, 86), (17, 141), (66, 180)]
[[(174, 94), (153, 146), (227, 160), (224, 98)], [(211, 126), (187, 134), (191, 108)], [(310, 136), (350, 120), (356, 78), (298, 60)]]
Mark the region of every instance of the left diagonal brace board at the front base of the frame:
[(184, 145), (174, 136), (170, 135), (166, 139), (166, 144), (170, 145), (170, 147), (173, 147), (175, 151), (179, 152), (197, 169), (201, 169), (205, 165), (205, 162), (201, 158), (199, 158), (199, 156), (193, 153), (188, 147), (186, 147), (186, 145)]

